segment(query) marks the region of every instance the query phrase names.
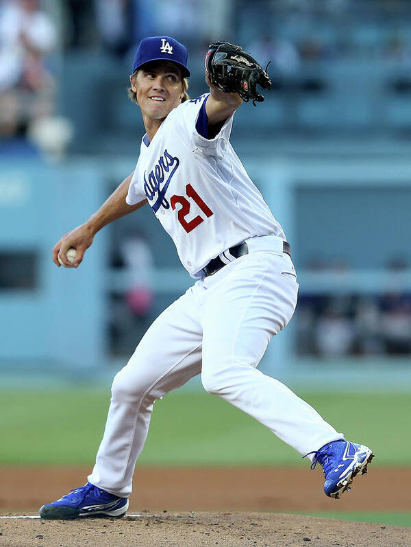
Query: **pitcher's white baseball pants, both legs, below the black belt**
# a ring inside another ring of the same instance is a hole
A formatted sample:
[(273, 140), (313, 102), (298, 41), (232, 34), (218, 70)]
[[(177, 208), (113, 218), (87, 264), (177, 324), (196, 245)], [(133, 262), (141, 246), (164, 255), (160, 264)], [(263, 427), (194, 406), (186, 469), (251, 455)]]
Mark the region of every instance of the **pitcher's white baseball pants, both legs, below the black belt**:
[(249, 254), (201, 279), (147, 330), (114, 377), (95, 467), (88, 480), (116, 496), (132, 492), (155, 399), (201, 373), (209, 393), (234, 404), (300, 454), (344, 439), (305, 401), (256, 369), (295, 310), (298, 283), (282, 240), (247, 240)]

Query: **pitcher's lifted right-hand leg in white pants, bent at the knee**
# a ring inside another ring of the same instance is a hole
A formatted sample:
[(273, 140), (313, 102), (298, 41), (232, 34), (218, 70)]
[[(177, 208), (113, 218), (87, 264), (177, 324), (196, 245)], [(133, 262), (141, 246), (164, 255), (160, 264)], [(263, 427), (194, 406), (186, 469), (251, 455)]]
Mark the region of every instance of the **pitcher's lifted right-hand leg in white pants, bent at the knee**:
[(214, 281), (204, 305), (204, 388), (258, 419), (300, 454), (343, 439), (282, 382), (255, 369), (271, 336), (294, 312), (297, 283), (282, 275), (282, 257), (256, 253), (241, 260), (232, 272), (226, 266), (226, 278)]

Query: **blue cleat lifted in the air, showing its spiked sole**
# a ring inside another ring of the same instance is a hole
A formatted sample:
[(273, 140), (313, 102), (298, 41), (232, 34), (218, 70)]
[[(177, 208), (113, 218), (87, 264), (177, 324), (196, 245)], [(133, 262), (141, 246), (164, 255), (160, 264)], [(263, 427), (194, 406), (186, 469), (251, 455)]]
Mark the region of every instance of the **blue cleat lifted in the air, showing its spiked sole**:
[(356, 475), (366, 474), (367, 465), (374, 457), (369, 447), (348, 441), (327, 443), (320, 450), (310, 454), (315, 454), (311, 469), (314, 469), (317, 463), (323, 466), (325, 495), (335, 499), (340, 498), (346, 490), (350, 490), (349, 485)]

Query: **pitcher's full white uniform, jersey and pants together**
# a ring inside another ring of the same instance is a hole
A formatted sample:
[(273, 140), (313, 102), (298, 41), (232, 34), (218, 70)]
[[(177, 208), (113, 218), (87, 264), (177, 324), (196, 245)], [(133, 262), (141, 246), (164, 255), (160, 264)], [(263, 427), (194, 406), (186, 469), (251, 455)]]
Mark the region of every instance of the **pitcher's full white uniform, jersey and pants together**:
[[(88, 481), (120, 498), (132, 492), (155, 399), (197, 374), (206, 391), (256, 418), (301, 455), (314, 459), (323, 445), (344, 439), (284, 384), (256, 369), (271, 337), (294, 313), (297, 276), (282, 249), (281, 226), (229, 144), (232, 117), (214, 139), (199, 134), (207, 135), (206, 97), (172, 110), (151, 143), (142, 139), (127, 194), (130, 205), (147, 197), (182, 263), (201, 279), (153, 321), (114, 378)], [(247, 255), (201, 275), (210, 259), (243, 240)]]

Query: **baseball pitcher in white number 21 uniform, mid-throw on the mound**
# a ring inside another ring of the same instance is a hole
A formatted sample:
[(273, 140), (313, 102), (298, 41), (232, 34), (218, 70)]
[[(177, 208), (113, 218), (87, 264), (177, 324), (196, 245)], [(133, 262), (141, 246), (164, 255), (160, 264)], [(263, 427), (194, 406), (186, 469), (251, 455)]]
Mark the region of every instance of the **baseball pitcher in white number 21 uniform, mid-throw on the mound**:
[(59, 259), (71, 266), (66, 252), (75, 248), (78, 267), (103, 226), (148, 205), (196, 281), (155, 319), (114, 377), (87, 484), (43, 505), (42, 518), (124, 515), (155, 399), (198, 374), (206, 391), (263, 423), (312, 468), (320, 463), (327, 496), (339, 498), (373, 458), (257, 368), (290, 321), (299, 288), (282, 226), (229, 141), (236, 109), (264, 101), (257, 86), (269, 90), (269, 75), (237, 45), (216, 42), (206, 54), (210, 91), (190, 100), (189, 76), (184, 45), (169, 36), (142, 40), (129, 89), (146, 130), (136, 168), (53, 248), (57, 266)]

